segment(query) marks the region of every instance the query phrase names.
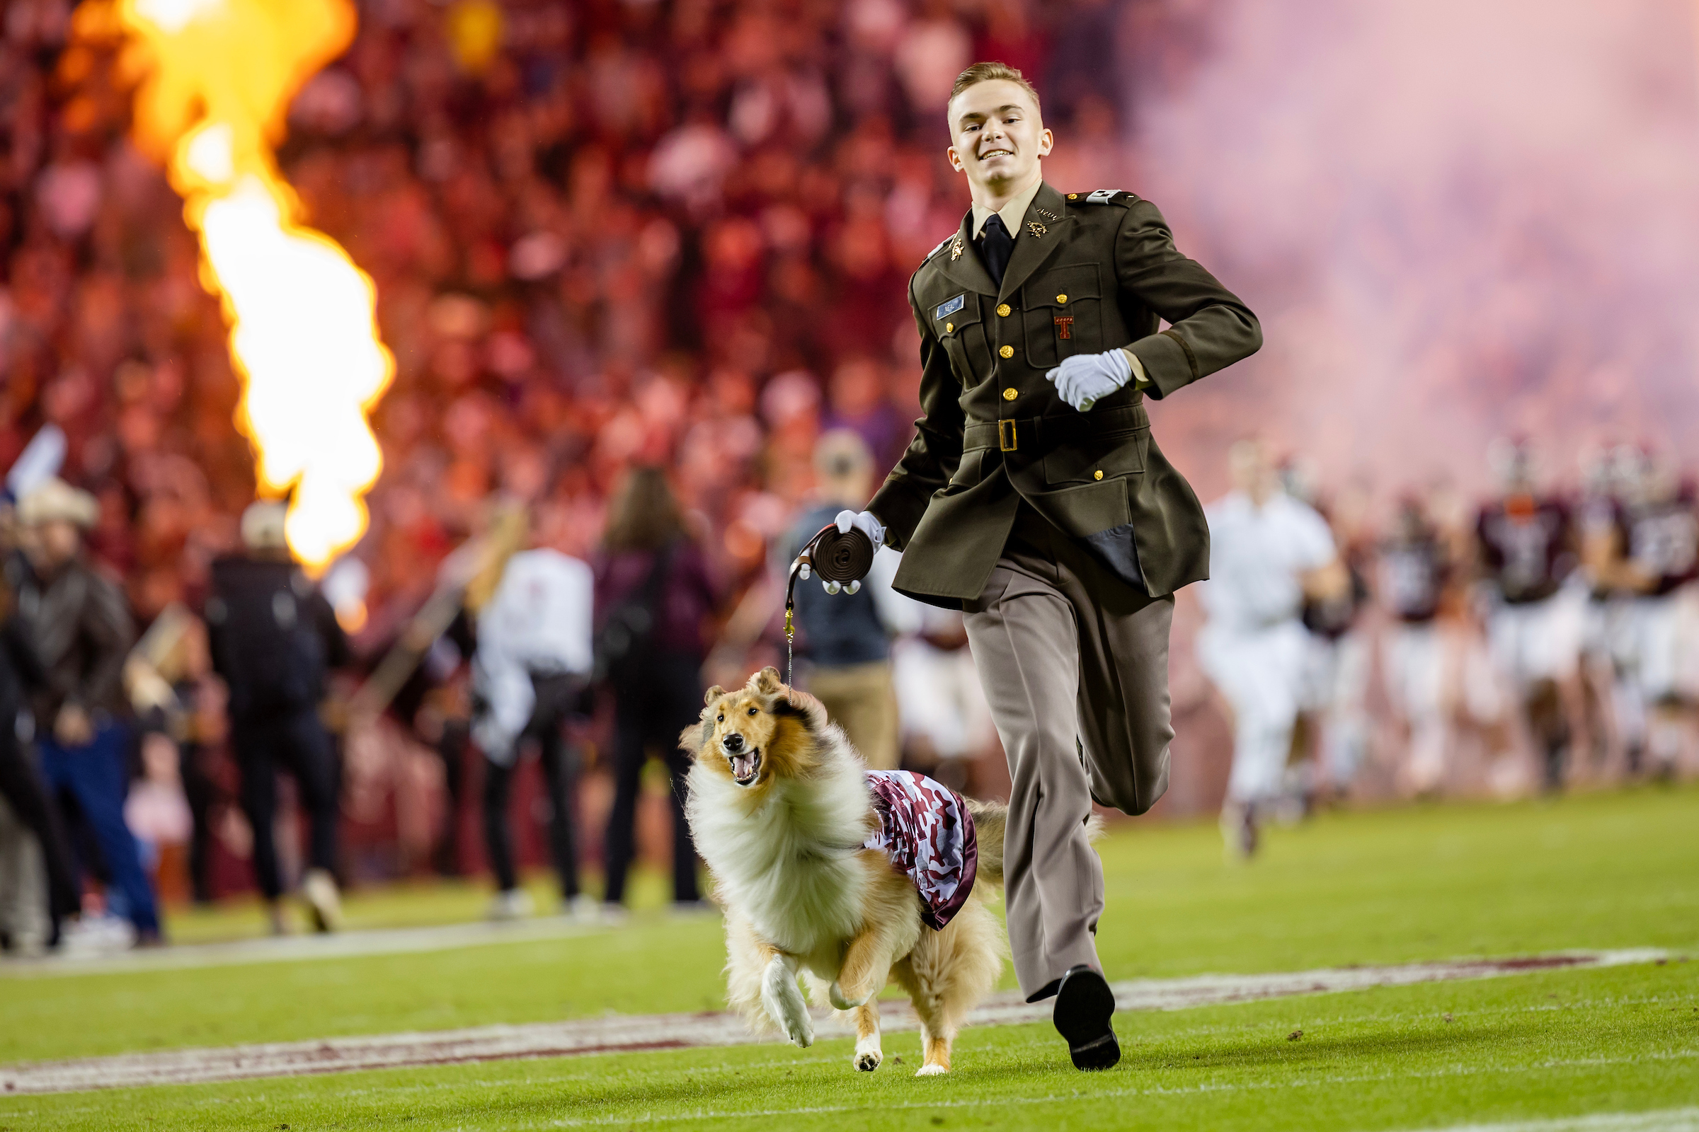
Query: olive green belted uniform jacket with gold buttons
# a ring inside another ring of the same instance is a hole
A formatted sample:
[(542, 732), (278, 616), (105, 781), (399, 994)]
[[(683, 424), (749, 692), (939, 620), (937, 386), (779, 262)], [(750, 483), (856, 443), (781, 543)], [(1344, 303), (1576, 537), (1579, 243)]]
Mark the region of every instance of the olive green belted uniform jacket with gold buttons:
[[(923, 416), (868, 504), (904, 552), (895, 587), (957, 608), (979, 597), (1023, 499), (1143, 594), (1208, 577), (1203, 507), (1150, 438), (1143, 394), (1256, 353), (1256, 316), (1130, 192), (1041, 185), (1001, 289), (972, 222), (968, 210), (909, 280)], [(1077, 412), (1045, 380), (1062, 358), (1118, 346), (1143, 365), (1142, 389), (1128, 382)]]

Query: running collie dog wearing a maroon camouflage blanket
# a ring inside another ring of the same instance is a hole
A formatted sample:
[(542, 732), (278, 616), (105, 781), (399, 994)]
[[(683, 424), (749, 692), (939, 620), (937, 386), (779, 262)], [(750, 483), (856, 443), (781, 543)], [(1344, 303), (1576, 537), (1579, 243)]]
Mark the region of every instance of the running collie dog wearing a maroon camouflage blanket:
[[(921, 1018), (917, 1076), (948, 1073), (957, 1030), (996, 984), (1008, 950), (991, 911), (1008, 811), (917, 776), (868, 772), (821, 701), (785, 687), (771, 667), (741, 689), (708, 689), (702, 723), (680, 743), (693, 757), (690, 828), (725, 910), (729, 1003), (754, 1030), (809, 1045), (805, 976), (814, 1001), (855, 1013), (851, 1061), (872, 1071), (883, 1059), (877, 996), (895, 981)], [(866, 847), (890, 828), (890, 801), (875, 804), (887, 798), (880, 789), (907, 789), (960, 818), (953, 845), (967, 852), (955, 857), (968, 864), (938, 928), (940, 891), (928, 889), (928, 905), (917, 888), (940, 867), (936, 842), (919, 850), (919, 881), (894, 864), (897, 849)]]

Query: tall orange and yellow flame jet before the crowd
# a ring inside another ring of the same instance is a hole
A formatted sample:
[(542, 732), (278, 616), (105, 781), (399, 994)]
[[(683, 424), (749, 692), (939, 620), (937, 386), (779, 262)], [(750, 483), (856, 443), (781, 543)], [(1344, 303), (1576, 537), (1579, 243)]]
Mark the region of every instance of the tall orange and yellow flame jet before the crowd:
[(136, 141), (167, 163), (200, 234), (243, 380), (236, 426), (260, 492), (294, 492), (289, 546), (323, 572), (365, 533), (382, 470), (367, 411), (394, 375), (375, 289), (348, 253), (296, 222), (274, 161), (289, 102), (353, 41), (348, 0), (121, 0), (141, 54)]

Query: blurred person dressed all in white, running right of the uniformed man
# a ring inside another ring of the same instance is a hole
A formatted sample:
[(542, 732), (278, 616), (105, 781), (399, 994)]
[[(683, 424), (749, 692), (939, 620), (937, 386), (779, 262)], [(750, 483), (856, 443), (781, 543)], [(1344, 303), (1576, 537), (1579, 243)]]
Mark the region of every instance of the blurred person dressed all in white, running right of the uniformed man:
[(1303, 703), (1308, 631), (1305, 594), (1349, 584), (1327, 521), (1279, 487), (1262, 441), (1230, 453), (1233, 490), (1205, 507), (1210, 580), (1208, 623), (1198, 660), (1233, 711), (1233, 769), (1222, 806), (1228, 852), (1257, 847), (1259, 810), (1281, 793), (1293, 726)]

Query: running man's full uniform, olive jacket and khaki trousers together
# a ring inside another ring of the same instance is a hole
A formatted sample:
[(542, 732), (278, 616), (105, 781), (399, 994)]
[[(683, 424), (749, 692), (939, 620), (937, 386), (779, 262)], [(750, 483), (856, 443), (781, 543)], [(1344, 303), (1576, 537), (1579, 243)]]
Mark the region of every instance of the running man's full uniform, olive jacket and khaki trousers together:
[[(909, 282), (923, 416), (868, 511), (904, 552), (895, 589), (965, 613), (1013, 779), (1014, 967), (1038, 998), (1074, 966), (1101, 971), (1103, 867), (1084, 823), (1092, 799), (1143, 813), (1167, 787), (1172, 594), (1208, 575), (1203, 507), (1150, 438), (1143, 395), (1262, 336), (1130, 192), (1040, 185), (1001, 282), (975, 227), (968, 212)], [(1115, 348), (1135, 380), (1089, 412), (1045, 378)]]

